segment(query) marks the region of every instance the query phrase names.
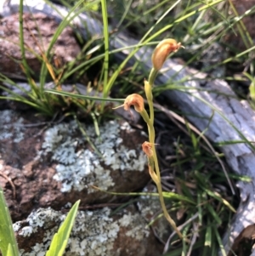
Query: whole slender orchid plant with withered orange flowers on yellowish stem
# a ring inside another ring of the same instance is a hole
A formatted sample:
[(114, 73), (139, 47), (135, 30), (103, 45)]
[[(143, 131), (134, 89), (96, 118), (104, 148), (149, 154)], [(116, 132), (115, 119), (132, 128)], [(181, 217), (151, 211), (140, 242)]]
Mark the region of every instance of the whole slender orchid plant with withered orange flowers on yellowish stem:
[[(157, 191), (159, 194), (161, 208), (164, 213), (165, 218), (169, 222), (169, 224), (173, 227), (173, 230), (178, 234), (179, 238), (184, 239), (180, 230), (178, 230), (174, 220), (171, 218), (169, 213), (167, 212), (166, 204), (164, 202), (162, 187), (161, 187), (161, 173), (160, 168), (156, 156), (156, 148), (155, 148), (155, 128), (154, 128), (154, 107), (153, 107), (153, 95), (152, 88), (156, 79), (156, 75), (158, 71), (161, 70), (162, 65), (167, 60), (169, 54), (178, 51), (179, 48), (183, 47), (181, 43), (177, 43), (174, 39), (169, 38), (162, 40), (159, 43), (154, 53), (152, 54), (152, 69), (150, 71), (149, 80), (144, 80), (144, 91), (147, 98), (147, 102), (149, 105), (150, 114), (144, 109), (144, 99), (139, 94), (130, 94), (127, 96), (124, 104), (121, 105), (124, 107), (126, 111), (130, 110), (130, 106), (133, 105), (134, 110), (139, 112), (141, 117), (143, 117), (144, 122), (147, 123), (148, 132), (149, 132), (149, 141), (145, 141), (142, 145), (143, 151), (148, 157), (148, 168), (151, 179), (156, 184)], [(121, 107), (119, 106), (119, 107)], [(187, 239), (185, 239), (187, 241)]]

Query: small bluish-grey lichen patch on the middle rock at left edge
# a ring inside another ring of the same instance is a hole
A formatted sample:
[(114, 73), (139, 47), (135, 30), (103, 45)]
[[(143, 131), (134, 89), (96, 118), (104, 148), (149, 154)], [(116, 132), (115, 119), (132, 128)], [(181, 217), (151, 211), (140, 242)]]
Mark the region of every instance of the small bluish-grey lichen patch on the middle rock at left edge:
[(19, 143), (24, 139), (24, 119), (18, 117), (14, 111), (0, 111), (0, 140), (12, 139), (14, 143)]

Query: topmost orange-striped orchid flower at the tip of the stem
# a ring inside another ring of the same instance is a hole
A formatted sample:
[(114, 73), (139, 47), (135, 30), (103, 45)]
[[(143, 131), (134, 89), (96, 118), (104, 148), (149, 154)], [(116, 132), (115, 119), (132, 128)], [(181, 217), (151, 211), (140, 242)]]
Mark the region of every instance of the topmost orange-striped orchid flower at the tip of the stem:
[(165, 39), (159, 43), (151, 57), (152, 65), (156, 71), (159, 71), (172, 52), (175, 53), (179, 48), (183, 47), (181, 43), (177, 43), (174, 39)]

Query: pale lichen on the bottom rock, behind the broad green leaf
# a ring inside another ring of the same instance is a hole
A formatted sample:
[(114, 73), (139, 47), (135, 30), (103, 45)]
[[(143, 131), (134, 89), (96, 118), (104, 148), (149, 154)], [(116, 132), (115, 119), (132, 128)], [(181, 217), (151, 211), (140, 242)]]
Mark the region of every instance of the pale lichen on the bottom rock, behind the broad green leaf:
[[(65, 255), (88, 255), (88, 256), (109, 256), (113, 255), (116, 248), (114, 242), (124, 226), (127, 230), (126, 236), (141, 240), (149, 236), (150, 230), (145, 228), (139, 214), (127, 213), (121, 219), (114, 220), (110, 217), (111, 210), (103, 208), (96, 211), (79, 211), (75, 225), (71, 231), (71, 237), (67, 244)], [(26, 239), (33, 240), (35, 245), (31, 247), (31, 252), (24, 256), (45, 255), (49, 244), (58, 230), (59, 225), (65, 219), (65, 214), (54, 211), (51, 208), (38, 209), (31, 213), (26, 219), (28, 225), (21, 228), (20, 222), (14, 224), (14, 230), (18, 231), (18, 236), (26, 236)], [(49, 228), (53, 226), (54, 228)], [(37, 241), (37, 232), (44, 232), (42, 241)], [(119, 245), (122, 246), (121, 244)]]

